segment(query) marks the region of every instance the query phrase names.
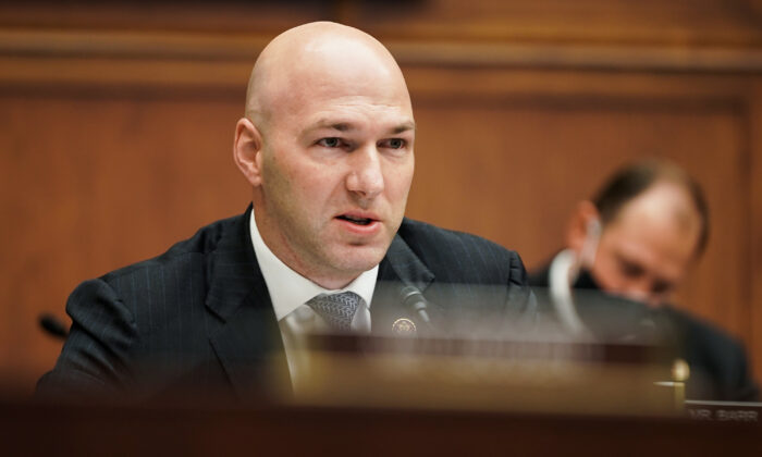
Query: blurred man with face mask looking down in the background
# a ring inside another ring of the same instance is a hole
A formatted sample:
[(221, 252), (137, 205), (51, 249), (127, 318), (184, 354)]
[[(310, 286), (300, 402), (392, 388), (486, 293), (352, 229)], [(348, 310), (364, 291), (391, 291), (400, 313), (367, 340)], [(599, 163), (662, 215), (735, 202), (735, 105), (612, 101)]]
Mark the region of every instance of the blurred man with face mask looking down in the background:
[(699, 185), (669, 162), (634, 163), (617, 171), (591, 201), (578, 203), (566, 249), (531, 274), (530, 283), (573, 333), (674, 342), (691, 368), (689, 398), (757, 399), (743, 346), (668, 305), (708, 238), (709, 212)]

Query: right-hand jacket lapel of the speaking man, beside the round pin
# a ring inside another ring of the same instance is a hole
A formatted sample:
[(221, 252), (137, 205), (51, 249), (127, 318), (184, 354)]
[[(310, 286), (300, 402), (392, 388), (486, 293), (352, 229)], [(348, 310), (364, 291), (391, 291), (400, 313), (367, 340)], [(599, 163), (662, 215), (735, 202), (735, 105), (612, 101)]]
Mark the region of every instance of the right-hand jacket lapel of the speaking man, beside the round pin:
[[(370, 307), (373, 334), (394, 335), (394, 322), (401, 318), (411, 320), (417, 329), (423, 329), (420, 319), (403, 306), (400, 292), (402, 287), (410, 285), (423, 293), (433, 280), (433, 273), (402, 237), (396, 235), (379, 264), (378, 282)], [(429, 304), (432, 320), (440, 314), (437, 305)]]

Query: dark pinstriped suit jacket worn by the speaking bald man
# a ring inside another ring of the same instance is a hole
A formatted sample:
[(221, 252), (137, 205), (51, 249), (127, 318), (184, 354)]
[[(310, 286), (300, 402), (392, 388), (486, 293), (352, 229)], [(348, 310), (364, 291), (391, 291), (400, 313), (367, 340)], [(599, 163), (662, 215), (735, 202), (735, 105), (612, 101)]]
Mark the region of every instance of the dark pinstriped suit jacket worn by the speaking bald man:
[[(250, 208), (160, 257), (81, 284), (66, 304), (70, 336), (38, 394), (139, 399), (187, 391), (246, 399), (262, 394), (273, 360), (287, 373), (249, 215)], [(423, 293), (440, 330), (509, 331), (534, 312), (526, 281), (515, 252), (405, 219), (380, 263), (373, 333), (391, 331), (401, 317), (416, 320), (398, 299), (401, 285)]]

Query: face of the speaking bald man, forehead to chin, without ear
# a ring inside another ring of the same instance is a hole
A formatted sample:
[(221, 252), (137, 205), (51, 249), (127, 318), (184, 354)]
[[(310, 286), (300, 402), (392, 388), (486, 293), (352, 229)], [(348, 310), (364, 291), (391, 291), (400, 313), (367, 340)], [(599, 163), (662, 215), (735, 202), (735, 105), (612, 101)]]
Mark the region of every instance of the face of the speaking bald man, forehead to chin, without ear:
[(286, 100), (290, 109), (263, 132), (255, 198), (271, 250), (330, 288), (382, 260), (402, 223), (414, 170), (406, 89), (348, 86), (329, 83)]

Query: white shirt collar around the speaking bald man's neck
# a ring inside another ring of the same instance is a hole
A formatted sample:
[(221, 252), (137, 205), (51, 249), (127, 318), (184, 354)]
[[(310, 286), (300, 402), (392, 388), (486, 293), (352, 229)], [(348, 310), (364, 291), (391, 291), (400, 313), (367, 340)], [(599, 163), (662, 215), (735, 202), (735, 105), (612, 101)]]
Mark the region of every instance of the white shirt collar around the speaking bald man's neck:
[(259, 228), (257, 228), (257, 223), (255, 222), (254, 209), (251, 209), (249, 226), (254, 254), (257, 256), (257, 262), (265, 277), (272, 307), (279, 321), (319, 294), (336, 294), (351, 291), (362, 297), (368, 308), (370, 308), (370, 299), (373, 296), (379, 272), (378, 264), (362, 272), (342, 289), (327, 289), (295, 272), (272, 254), (259, 234)]

